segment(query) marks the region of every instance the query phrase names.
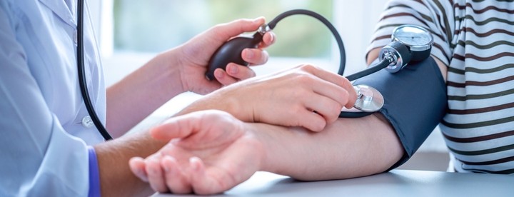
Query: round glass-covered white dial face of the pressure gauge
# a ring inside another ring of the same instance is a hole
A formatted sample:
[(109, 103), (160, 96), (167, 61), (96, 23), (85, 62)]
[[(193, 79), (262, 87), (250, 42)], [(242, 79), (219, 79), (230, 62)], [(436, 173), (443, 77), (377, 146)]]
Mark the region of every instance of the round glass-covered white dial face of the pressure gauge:
[(432, 34), (426, 29), (414, 25), (398, 26), (393, 31), (393, 40), (400, 41), (413, 51), (426, 50), (433, 44)]

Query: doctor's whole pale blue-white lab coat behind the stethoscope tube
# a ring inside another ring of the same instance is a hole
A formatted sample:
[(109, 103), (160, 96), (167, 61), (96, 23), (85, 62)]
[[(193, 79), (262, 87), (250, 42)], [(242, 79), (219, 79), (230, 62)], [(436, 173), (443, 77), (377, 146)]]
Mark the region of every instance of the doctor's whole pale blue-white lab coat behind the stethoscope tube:
[[(106, 93), (84, 15), (89, 94), (105, 122)], [(76, 69), (76, 1), (0, 1), (0, 196), (87, 196), (88, 146), (103, 141)]]

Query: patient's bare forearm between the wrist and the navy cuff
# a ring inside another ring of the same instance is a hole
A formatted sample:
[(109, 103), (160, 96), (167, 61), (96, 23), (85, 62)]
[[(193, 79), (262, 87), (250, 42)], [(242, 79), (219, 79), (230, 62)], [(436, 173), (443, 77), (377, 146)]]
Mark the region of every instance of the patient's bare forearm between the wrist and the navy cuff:
[(263, 171), (306, 181), (381, 173), (403, 155), (393, 128), (381, 115), (339, 118), (319, 133), (266, 124), (256, 124), (256, 133), (267, 148)]

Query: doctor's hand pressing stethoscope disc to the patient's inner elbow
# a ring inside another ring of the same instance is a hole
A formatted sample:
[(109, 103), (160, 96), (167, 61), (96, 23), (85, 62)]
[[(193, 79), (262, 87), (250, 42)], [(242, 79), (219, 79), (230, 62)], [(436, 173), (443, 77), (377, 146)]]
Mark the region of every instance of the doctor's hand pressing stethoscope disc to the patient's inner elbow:
[(191, 103), (181, 114), (218, 109), (244, 122), (321, 131), (337, 120), (343, 106), (352, 108), (356, 99), (348, 79), (316, 66), (302, 65), (226, 86)]

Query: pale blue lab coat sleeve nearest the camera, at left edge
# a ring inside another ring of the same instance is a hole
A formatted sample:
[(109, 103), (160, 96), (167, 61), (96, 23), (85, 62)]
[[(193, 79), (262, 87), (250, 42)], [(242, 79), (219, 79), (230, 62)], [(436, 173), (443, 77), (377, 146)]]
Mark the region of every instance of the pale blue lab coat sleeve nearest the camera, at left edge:
[(0, 196), (87, 196), (89, 153), (52, 113), (0, 2)]

